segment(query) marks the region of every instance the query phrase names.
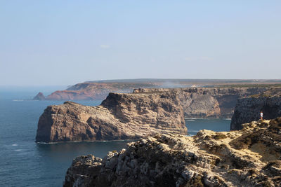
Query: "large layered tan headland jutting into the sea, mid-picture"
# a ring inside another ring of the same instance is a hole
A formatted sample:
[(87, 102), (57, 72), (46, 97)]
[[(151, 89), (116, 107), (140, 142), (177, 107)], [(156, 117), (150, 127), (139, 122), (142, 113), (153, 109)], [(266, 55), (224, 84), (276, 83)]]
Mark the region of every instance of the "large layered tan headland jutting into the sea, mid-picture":
[(175, 92), (110, 93), (100, 106), (48, 106), (39, 118), (36, 141), (139, 139), (166, 132), (187, 134)]

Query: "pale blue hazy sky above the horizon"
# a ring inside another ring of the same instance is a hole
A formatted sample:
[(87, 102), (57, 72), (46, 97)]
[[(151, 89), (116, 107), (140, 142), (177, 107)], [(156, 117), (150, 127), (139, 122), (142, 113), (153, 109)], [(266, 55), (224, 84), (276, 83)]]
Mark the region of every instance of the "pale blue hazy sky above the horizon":
[(0, 0), (0, 85), (281, 78), (281, 1)]

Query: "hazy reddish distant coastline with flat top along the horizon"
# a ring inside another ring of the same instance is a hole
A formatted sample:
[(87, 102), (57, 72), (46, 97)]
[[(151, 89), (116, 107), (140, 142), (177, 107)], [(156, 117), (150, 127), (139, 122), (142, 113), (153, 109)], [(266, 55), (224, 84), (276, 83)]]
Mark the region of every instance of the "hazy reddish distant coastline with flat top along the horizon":
[(108, 81), (87, 81), (72, 85), (67, 90), (57, 90), (49, 100), (93, 100), (105, 99), (110, 92), (132, 92), (136, 88), (190, 88), (218, 86), (220, 88), (264, 88), (280, 85), (281, 80), (218, 80), (218, 79), (124, 79)]

